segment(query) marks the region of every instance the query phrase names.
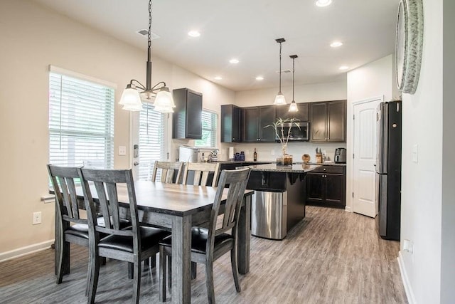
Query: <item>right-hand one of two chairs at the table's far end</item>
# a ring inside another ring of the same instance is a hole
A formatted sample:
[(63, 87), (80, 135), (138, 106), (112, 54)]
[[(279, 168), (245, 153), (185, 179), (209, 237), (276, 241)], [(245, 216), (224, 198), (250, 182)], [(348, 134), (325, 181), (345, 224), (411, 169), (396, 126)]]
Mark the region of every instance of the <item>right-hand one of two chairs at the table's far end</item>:
[[(182, 184), (194, 184), (199, 186), (216, 187), (218, 184), (218, 175), (220, 172), (220, 163), (218, 162), (186, 162), (183, 170)], [(212, 184), (208, 184), (209, 174), (213, 173)], [(191, 174), (193, 180), (191, 181)]]

